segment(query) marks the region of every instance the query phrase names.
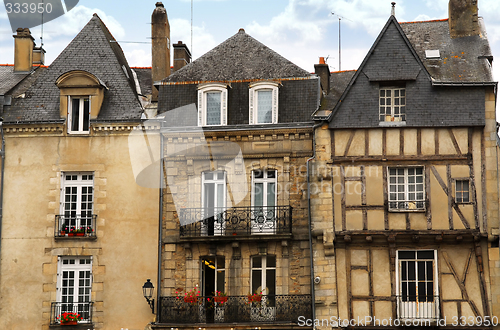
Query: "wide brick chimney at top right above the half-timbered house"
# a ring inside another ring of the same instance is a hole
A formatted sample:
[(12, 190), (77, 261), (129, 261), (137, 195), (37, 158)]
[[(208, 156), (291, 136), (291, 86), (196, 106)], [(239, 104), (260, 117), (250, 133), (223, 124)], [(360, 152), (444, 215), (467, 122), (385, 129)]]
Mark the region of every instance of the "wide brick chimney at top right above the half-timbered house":
[(477, 19), (478, 0), (450, 0), (448, 3), (448, 24), (452, 38), (479, 35)]

